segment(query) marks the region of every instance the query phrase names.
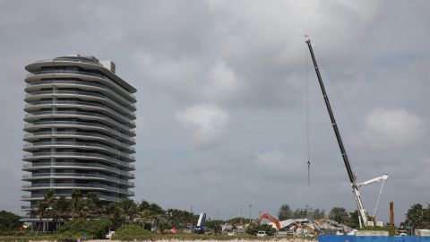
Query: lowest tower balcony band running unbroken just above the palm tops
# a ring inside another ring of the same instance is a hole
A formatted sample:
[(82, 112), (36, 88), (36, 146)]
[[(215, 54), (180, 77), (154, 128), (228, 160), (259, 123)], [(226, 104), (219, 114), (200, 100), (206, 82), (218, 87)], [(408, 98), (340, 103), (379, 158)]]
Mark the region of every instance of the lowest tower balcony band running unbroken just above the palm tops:
[(34, 190), (46, 190), (46, 189), (80, 189), (80, 190), (99, 190), (107, 192), (115, 192), (118, 194), (134, 195), (132, 191), (128, 189), (118, 188), (115, 186), (107, 186), (100, 184), (28, 184), (22, 186), (22, 191), (34, 191)]

